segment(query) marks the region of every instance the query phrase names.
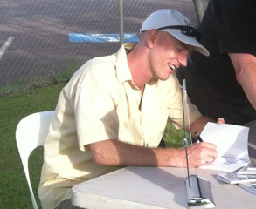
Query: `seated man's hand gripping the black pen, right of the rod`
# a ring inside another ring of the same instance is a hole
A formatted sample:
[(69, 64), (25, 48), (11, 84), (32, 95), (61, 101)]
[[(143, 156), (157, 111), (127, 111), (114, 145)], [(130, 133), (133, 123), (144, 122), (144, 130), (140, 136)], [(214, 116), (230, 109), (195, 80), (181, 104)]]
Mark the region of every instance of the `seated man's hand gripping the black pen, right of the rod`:
[(217, 156), (218, 152), (216, 150), (216, 145), (211, 143), (201, 142), (188, 146), (190, 167), (200, 167), (202, 165), (206, 165), (207, 163), (213, 162)]

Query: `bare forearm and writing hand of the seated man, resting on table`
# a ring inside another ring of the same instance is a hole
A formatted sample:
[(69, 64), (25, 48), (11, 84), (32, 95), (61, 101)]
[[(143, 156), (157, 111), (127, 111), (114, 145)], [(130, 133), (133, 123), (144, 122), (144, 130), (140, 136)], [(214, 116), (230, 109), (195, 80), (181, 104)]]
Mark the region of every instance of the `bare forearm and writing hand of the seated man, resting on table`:
[[(149, 148), (108, 139), (90, 145), (98, 165), (185, 167), (184, 148)], [(217, 157), (216, 146), (198, 143), (188, 147), (190, 167), (205, 165)]]

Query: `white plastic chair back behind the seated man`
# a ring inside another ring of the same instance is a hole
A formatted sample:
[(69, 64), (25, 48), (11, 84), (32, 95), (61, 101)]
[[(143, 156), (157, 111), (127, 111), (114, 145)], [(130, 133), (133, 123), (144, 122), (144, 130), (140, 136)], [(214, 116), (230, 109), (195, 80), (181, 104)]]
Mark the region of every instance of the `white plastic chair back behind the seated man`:
[(23, 118), (17, 125), (16, 143), (17, 149), (28, 182), (33, 208), (38, 208), (31, 187), (31, 179), (28, 168), (28, 159), (31, 152), (40, 145), (45, 144), (45, 138), (49, 131), (49, 125), (54, 111), (41, 111)]

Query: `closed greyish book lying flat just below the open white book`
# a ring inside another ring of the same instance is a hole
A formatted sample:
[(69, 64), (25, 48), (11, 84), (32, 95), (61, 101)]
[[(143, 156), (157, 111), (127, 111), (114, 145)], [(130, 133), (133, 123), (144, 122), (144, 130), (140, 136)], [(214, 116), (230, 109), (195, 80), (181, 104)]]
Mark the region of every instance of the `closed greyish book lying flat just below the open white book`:
[(217, 174), (217, 178), (228, 184), (252, 183), (256, 184), (256, 175), (240, 175), (237, 171), (221, 172)]

